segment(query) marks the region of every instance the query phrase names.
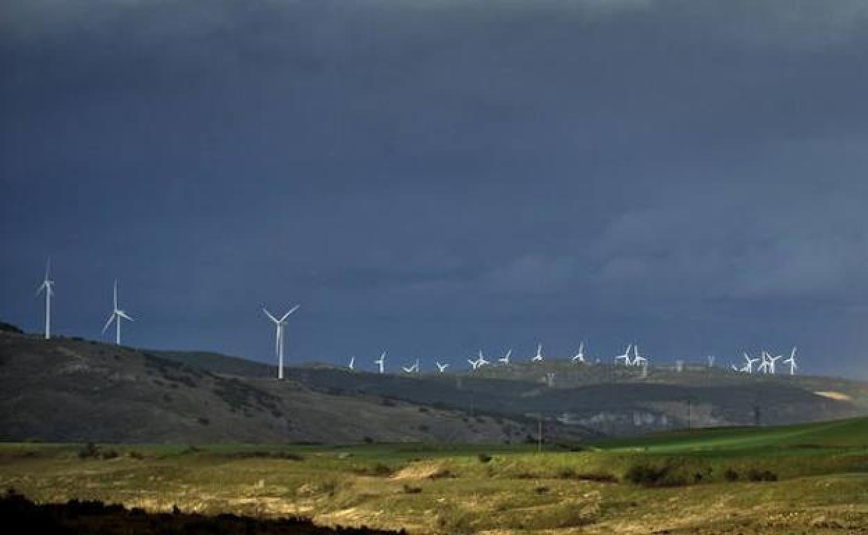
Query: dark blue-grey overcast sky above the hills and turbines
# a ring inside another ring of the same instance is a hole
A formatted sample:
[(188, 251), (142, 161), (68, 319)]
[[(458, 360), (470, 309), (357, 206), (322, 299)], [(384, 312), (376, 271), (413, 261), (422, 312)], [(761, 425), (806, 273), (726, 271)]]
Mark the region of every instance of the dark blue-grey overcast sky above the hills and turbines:
[[(868, 377), (868, 3), (5, 0), (0, 320)], [(109, 336), (105, 336), (109, 338)]]

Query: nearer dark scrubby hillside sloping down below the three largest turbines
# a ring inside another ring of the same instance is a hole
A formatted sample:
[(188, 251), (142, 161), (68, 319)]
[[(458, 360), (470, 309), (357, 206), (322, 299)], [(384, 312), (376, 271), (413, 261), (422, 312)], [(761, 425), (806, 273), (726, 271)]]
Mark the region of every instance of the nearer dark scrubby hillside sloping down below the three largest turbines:
[(293, 380), (220, 375), (80, 339), (0, 333), (3, 440), (499, 443), (523, 440), (532, 427), (377, 395), (331, 395)]

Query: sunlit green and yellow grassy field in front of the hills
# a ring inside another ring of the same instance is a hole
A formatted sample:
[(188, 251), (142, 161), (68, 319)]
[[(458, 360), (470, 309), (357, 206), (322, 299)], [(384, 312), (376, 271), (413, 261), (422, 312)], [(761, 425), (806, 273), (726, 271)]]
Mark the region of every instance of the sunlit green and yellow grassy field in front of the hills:
[(868, 533), (868, 419), (547, 445), (542, 453), (3, 444), (0, 484), (36, 501), (304, 515), (411, 533)]

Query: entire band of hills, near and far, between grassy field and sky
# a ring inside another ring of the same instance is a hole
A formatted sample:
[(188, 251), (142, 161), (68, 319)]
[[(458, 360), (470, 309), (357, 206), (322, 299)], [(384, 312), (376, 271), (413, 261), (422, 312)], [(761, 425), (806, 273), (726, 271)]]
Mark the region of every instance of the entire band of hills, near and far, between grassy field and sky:
[[(554, 374), (554, 384), (545, 382)], [(868, 414), (868, 384), (550, 360), (454, 374), (309, 365), (0, 333), (0, 438), (126, 442), (584, 440)]]

